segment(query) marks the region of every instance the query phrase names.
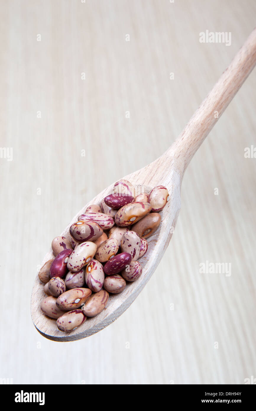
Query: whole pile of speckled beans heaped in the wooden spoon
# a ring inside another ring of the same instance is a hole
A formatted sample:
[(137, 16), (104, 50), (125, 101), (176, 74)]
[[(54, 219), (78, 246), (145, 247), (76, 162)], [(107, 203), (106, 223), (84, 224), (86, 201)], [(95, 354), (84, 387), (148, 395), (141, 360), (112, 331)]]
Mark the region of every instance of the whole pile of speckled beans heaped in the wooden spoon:
[(55, 258), (39, 271), (46, 298), (41, 309), (69, 332), (87, 317), (99, 314), (109, 293), (121, 293), (142, 274), (138, 261), (148, 249), (146, 238), (161, 222), (158, 213), (169, 200), (168, 190), (157, 186), (136, 196), (133, 185), (120, 180), (101, 205), (90, 205), (70, 226), (70, 241), (55, 237)]

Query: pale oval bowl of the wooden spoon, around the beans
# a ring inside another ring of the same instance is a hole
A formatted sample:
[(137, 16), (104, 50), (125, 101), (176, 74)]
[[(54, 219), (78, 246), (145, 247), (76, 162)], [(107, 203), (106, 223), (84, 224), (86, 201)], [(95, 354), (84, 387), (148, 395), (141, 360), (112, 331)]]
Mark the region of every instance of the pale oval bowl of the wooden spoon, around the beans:
[[(158, 168), (158, 172), (156, 171), (158, 162), (161, 162), (161, 157), (149, 166), (124, 177), (125, 180), (129, 180), (134, 185), (135, 189), (138, 189), (138, 193), (141, 193), (142, 190), (149, 193), (152, 188), (161, 184), (167, 187), (170, 196), (168, 203), (160, 211), (161, 224), (159, 228), (147, 239), (148, 251), (139, 260), (143, 267), (141, 277), (134, 282), (127, 282), (127, 286), (122, 293), (110, 294), (108, 304), (100, 314), (95, 317), (87, 317), (81, 326), (68, 333), (64, 333), (58, 330), (56, 320), (45, 316), (40, 309), (40, 302), (45, 298), (45, 293), (44, 286), (37, 276), (32, 289), (31, 316), (35, 327), (44, 337), (54, 341), (74, 341), (100, 331), (115, 321), (131, 305), (145, 284), (147, 284), (168, 246), (180, 211), (180, 175), (173, 170), (170, 174), (168, 173), (168, 176), (164, 177), (160, 168)], [(89, 205), (100, 204), (104, 197), (111, 194), (113, 192), (113, 185), (104, 189), (86, 204), (74, 216), (70, 224), (61, 233), (61, 236), (70, 240), (70, 225), (77, 221), (78, 215), (83, 214)], [(168, 233), (168, 236), (166, 236), (166, 233)], [(54, 258), (54, 254), (52, 249), (50, 249), (42, 261), (42, 266), (52, 258)]]

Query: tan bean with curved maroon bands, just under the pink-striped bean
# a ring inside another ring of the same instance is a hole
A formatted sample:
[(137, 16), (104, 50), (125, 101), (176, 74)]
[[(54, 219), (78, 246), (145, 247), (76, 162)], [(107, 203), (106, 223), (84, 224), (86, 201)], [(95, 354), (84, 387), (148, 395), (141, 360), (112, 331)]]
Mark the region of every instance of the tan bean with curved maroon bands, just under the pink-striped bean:
[(69, 233), (78, 242), (95, 241), (102, 236), (103, 229), (95, 221), (77, 221), (71, 224)]

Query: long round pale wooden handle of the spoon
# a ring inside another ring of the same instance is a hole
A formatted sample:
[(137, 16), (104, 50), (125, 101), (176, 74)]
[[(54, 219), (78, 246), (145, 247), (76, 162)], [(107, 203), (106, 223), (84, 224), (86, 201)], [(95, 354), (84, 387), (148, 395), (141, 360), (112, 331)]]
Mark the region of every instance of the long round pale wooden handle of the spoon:
[(256, 65), (256, 28), (240, 48), (219, 81), (205, 97), (178, 139), (165, 154), (174, 157), (181, 176), (191, 158)]

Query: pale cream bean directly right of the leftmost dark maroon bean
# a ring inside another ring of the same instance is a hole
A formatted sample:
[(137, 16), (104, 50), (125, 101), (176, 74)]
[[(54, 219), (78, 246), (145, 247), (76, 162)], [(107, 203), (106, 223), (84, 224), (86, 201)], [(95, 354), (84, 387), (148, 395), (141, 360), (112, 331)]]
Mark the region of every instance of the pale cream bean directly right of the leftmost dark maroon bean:
[(68, 270), (72, 272), (80, 271), (93, 259), (96, 251), (97, 245), (92, 241), (85, 241), (79, 244), (69, 257), (67, 263)]

